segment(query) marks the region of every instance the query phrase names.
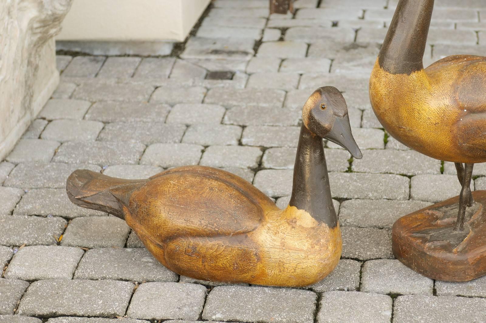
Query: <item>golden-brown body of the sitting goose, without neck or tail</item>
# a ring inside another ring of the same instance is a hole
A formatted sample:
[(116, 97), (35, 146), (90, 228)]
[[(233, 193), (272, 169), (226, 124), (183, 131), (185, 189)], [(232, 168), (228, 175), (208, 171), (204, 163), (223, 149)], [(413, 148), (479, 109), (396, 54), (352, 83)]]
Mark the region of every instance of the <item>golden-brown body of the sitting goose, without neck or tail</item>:
[(339, 224), (330, 229), (294, 206), (280, 210), (249, 182), (214, 168), (160, 173), (123, 212), (158, 261), (196, 279), (307, 286), (341, 256)]

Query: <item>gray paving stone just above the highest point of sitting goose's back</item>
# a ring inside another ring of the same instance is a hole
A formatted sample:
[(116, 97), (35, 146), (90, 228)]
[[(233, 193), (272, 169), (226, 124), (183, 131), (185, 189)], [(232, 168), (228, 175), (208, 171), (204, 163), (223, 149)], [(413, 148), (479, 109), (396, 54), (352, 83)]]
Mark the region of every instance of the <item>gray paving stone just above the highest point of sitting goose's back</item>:
[(204, 147), (198, 144), (151, 144), (140, 159), (140, 164), (164, 168), (197, 165)]

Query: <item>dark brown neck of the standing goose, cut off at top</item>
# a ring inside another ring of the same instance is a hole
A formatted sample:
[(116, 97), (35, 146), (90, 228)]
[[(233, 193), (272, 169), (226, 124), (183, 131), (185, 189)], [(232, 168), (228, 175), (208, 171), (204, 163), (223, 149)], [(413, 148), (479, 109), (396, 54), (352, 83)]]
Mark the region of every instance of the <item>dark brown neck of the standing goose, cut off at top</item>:
[(434, 0), (400, 0), (380, 51), (380, 67), (392, 74), (423, 69)]

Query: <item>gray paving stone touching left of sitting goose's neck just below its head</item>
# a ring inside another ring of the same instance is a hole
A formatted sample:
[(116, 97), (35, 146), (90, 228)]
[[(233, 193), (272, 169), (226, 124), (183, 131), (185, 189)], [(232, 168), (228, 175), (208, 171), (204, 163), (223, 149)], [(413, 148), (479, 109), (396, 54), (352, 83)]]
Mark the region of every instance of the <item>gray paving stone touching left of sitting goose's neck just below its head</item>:
[(243, 130), (242, 144), (263, 147), (296, 147), (300, 127), (247, 126)]

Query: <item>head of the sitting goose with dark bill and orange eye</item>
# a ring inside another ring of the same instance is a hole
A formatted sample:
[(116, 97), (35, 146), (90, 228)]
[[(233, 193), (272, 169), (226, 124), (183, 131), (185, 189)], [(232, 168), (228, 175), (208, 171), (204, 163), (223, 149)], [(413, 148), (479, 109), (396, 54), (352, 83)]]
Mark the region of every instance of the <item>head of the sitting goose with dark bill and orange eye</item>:
[(314, 135), (342, 146), (354, 158), (363, 157), (351, 133), (346, 101), (338, 89), (315, 90), (302, 109), (302, 122)]

